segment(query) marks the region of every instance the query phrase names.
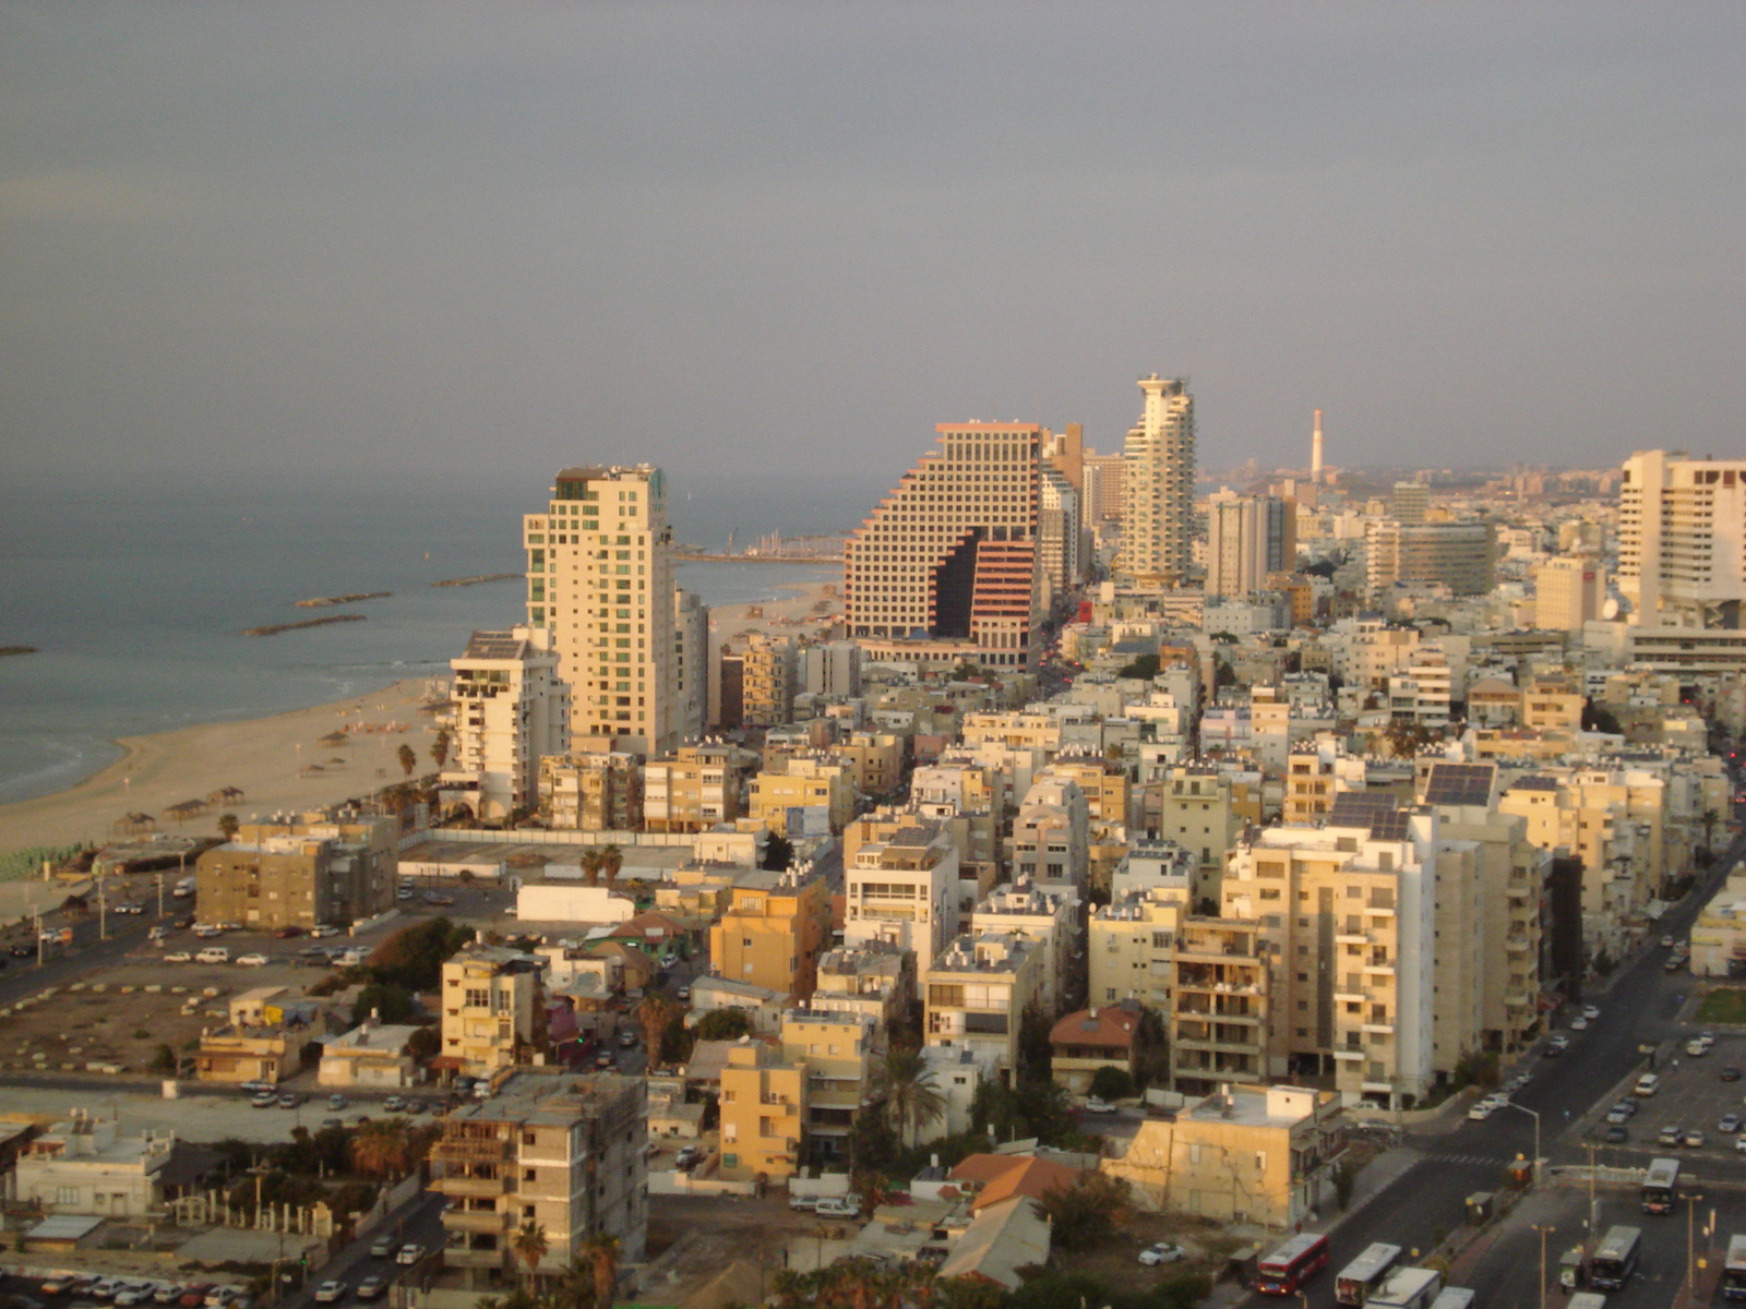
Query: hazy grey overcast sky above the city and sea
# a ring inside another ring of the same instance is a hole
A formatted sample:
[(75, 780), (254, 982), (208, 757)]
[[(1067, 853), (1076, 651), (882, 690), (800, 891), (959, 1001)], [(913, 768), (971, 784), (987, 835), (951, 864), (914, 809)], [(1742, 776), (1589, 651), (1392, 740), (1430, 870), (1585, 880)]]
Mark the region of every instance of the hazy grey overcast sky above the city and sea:
[[(0, 3), (14, 469), (1741, 452), (1746, 5)], [(410, 459), (409, 459), (410, 457)]]

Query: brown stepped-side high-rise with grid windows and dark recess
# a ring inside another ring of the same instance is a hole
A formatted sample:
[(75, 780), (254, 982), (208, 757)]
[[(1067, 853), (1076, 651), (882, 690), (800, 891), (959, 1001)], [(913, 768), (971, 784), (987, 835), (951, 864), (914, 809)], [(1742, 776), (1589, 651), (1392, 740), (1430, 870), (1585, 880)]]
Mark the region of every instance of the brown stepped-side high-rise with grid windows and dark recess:
[(1032, 668), (1041, 449), (1028, 422), (941, 422), (843, 560), (849, 635), (875, 658)]

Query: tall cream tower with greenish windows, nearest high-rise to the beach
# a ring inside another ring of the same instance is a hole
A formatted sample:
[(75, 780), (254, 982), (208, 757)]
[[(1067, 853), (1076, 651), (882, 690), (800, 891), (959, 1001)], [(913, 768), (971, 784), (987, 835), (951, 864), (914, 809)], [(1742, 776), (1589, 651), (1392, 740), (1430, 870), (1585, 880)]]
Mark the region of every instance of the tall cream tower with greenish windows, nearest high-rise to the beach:
[(655, 757), (679, 745), (667, 478), (650, 464), (566, 468), (522, 518), (527, 627), (550, 632), (571, 744)]

